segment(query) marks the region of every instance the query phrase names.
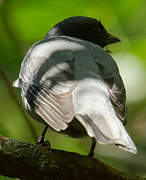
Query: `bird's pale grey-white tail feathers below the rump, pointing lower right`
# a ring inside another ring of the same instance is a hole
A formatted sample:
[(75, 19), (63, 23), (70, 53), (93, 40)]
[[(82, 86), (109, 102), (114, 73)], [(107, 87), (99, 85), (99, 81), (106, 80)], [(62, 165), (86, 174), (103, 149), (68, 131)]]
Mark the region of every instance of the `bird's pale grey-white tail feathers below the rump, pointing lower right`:
[(76, 117), (86, 128), (88, 135), (95, 137), (100, 144), (115, 144), (125, 151), (137, 153), (135, 144), (118, 118), (105, 118), (101, 114)]

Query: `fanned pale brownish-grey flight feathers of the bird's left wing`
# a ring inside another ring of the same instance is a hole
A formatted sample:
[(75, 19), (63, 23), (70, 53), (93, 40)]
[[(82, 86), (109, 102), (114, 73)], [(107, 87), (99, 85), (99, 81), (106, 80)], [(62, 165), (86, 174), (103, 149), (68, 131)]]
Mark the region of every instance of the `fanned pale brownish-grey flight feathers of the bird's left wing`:
[(35, 111), (47, 124), (55, 130), (64, 130), (68, 127), (73, 117), (73, 105), (71, 93), (53, 94), (45, 91), (35, 85), (30, 85), (27, 89), (26, 98), (29, 106)]

